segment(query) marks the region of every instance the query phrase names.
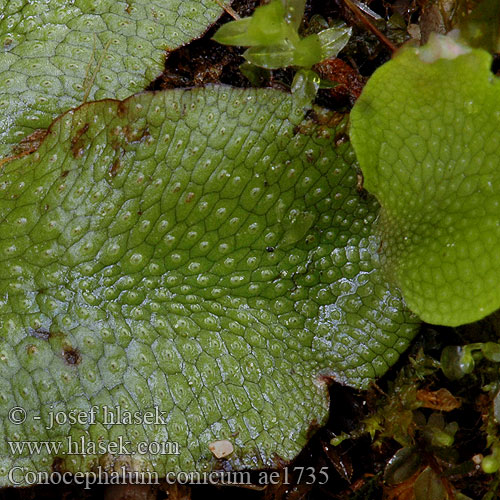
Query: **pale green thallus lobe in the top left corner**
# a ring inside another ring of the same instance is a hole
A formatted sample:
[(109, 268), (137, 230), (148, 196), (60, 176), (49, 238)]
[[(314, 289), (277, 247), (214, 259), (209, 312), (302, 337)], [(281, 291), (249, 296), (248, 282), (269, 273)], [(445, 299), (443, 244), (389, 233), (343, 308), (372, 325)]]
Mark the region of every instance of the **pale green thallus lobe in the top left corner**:
[(0, 157), (85, 100), (143, 90), (222, 12), (215, 0), (0, 0)]

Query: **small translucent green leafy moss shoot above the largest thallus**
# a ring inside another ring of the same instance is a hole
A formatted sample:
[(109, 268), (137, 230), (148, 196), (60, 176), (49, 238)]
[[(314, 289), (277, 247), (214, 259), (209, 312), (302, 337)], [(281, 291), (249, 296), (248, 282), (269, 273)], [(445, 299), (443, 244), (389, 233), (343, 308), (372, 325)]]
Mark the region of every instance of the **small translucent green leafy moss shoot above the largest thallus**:
[(305, 3), (305, 0), (272, 0), (257, 7), (251, 17), (224, 24), (213, 39), (225, 45), (248, 47), (243, 54), (246, 63), (241, 70), (250, 81), (258, 79), (258, 68), (298, 68), (292, 91), (312, 100), (323, 82), (311, 68), (336, 57), (348, 42), (351, 28), (340, 23), (318, 33), (300, 36)]

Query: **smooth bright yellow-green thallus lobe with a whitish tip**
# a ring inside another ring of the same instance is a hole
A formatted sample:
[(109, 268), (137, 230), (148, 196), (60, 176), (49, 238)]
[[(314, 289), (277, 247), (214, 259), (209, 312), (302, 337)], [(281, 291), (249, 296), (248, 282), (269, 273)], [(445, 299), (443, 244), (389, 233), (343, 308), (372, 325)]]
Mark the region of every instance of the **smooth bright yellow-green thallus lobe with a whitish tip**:
[(500, 306), (500, 83), (451, 38), (402, 50), (351, 113), (365, 187), (382, 205), (385, 270), (429, 323)]

